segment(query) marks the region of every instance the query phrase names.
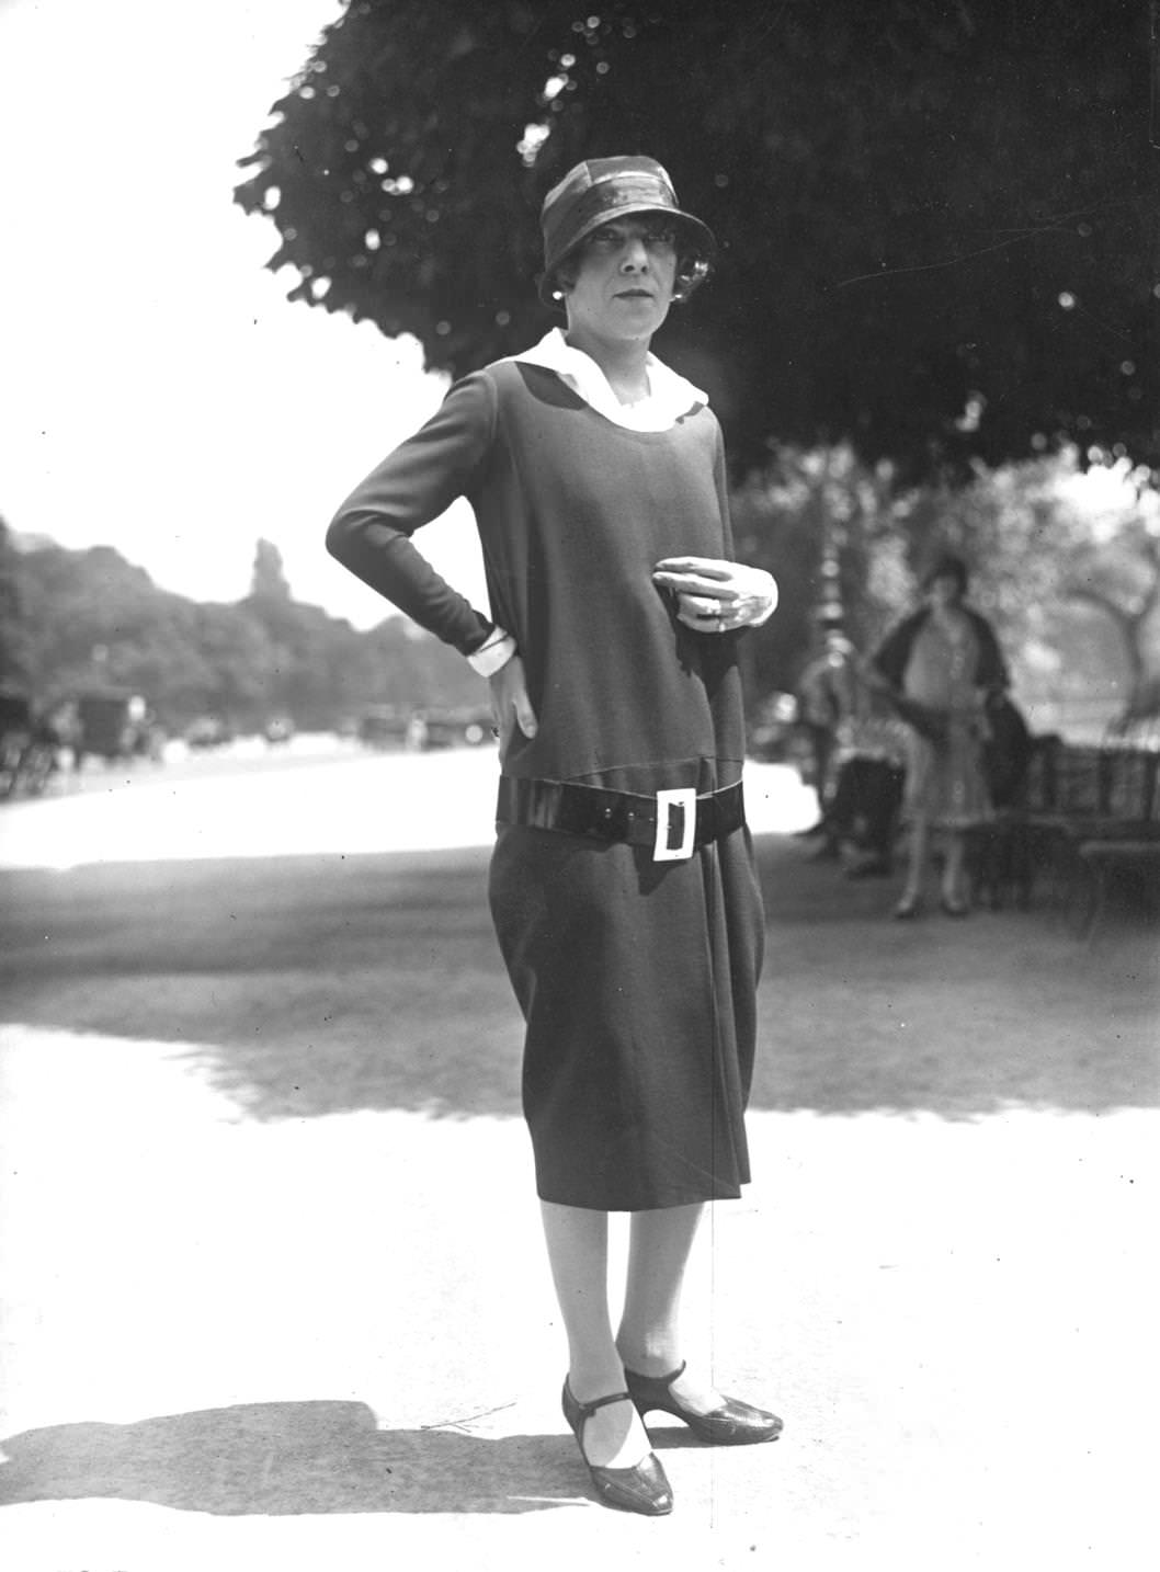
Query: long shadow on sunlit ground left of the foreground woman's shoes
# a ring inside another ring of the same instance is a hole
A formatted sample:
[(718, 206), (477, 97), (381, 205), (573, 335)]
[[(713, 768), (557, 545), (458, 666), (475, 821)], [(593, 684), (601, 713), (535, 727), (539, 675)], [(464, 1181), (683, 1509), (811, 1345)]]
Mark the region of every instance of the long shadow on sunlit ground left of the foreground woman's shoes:
[(0, 1506), (112, 1498), (215, 1515), (536, 1512), (583, 1500), (572, 1438), (379, 1429), (362, 1402), (267, 1402), (0, 1442)]

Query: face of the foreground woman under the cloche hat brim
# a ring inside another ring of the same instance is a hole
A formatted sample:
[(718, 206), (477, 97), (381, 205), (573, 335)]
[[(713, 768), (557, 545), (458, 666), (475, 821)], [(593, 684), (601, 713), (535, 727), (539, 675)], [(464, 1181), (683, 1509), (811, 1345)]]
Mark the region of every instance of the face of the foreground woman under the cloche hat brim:
[(663, 215), (600, 225), (582, 244), (564, 296), (569, 335), (648, 341), (668, 316), (674, 277), (676, 231)]

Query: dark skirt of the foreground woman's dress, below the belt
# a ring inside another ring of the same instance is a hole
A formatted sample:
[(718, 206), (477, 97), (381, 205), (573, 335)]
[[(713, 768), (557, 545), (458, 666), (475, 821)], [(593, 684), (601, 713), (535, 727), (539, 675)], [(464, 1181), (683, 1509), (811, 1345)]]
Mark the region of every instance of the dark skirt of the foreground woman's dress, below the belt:
[(527, 1023), (539, 1196), (608, 1212), (739, 1196), (764, 951), (748, 830), (654, 863), (500, 825), (489, 898)]

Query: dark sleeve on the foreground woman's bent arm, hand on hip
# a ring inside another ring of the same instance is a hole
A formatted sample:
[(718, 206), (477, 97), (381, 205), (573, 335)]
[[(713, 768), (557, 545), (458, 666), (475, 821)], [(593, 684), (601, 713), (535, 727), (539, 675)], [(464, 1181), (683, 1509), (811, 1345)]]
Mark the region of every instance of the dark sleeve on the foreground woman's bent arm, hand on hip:
[(494, 426), (490, 379), (476, 373), (457, 382), (435, 415), (351, 492), (327, 530), (332, 556), (464, 656), (494, 624), (435, 572), (410, 536), (472, 487)]

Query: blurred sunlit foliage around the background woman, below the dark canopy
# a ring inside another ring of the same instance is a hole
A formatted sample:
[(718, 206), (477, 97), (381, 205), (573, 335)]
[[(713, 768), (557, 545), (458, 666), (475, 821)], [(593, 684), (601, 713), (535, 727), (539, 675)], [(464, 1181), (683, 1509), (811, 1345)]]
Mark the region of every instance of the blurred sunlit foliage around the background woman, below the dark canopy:
[(1143, 467), (1081, 467), (1064, 450), (976, 462), (959, 484), (899, 486), (890, 465), (871, 468), (849, 446), (786, 448), (734, 492), (732, 509), (739, 555), (781, 588), (778, 615), (747, 649), (753, 696), (797, 685), (831, 594), (866, 652), (916, 602), (935, 553), (954, 550), (1026, 701), (1160, 714), (1160, 492)]

